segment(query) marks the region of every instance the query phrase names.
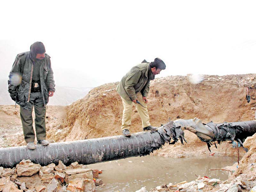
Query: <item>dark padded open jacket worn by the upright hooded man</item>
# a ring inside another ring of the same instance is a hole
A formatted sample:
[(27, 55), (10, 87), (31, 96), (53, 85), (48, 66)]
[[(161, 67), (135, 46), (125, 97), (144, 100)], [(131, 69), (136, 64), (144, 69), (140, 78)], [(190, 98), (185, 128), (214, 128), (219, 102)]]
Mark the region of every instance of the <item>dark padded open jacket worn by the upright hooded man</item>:
[[(8, 80), (8, 92), (10, 94), (17, 94), (18, 100), (17, 104), (21, 107), (27, 107), (27, 103), (30, 100), (30, 92), (32, 85), (32, 75), (33, 75), (33, 62), (29, 57), (30, 52), (23, 52), (16, 56), (16, 59), (12, 65), (12, 70), (9, 75)], [(49, 101), (49, 91), (55, 92), (55, 84), (53, 79), (53, 71), (51, 67), (50, 56), (45, 53), (45, 58), (43, 64), (40, 66), (40, 85), (41, 92), (44, 101), (44, 106)], [(10, 81), (12, 75), (19, 74), (21, 78), (21, 83), (13, 85)]]

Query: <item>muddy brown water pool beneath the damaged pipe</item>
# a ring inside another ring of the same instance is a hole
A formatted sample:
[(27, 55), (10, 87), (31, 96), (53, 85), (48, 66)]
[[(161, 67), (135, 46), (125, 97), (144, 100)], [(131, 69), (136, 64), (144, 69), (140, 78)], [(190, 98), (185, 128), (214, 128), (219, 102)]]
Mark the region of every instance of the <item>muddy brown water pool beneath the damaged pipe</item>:
[(130, 157), (98, 164), (90, 164), (88, 168), (102, 170), (99, 179), (104, 186), (97, 188), (97, 192), (129, 192), (142, 187), (147, 190), (159, 185), (192, 181), (196, 175), (226, 180), (228, 172), (209, 169), (220, 169), (236, 163), (236, 157), (205, 158), (170, 158), (159, 156)]

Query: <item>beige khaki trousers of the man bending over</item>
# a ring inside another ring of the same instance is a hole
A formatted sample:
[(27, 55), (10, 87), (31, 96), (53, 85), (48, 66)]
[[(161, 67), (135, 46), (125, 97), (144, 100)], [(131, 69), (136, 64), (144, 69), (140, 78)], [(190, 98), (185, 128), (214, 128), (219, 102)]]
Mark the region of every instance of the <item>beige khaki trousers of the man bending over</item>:
[(142, 121), (142, 127), (147, 127), (150, 125), (149, 122), (149, 115), (148, 115), (148, 105), (146, 103), (144, 103), (143, 98), (142, 98), (142, 94), (140, 92), (138, 92), (136, 94), (138, 100), (140, 101), (140, 103), (145, 106), (142, 107), (140, 104), (135, 104), (134, 102), (132, 102), (132, 104), (129, 104), (126, 100), (124, 100), (122, 97), (122, 101), (123, 101), (123, 106), (124, 106), (124, 110), (123, 110), (123, 119), (122, 119), (122, 130), (123, 129), (130, 129), (130, 126), (132, 124), (132, 105), (134, 105), (140, 115), (141, 121)]

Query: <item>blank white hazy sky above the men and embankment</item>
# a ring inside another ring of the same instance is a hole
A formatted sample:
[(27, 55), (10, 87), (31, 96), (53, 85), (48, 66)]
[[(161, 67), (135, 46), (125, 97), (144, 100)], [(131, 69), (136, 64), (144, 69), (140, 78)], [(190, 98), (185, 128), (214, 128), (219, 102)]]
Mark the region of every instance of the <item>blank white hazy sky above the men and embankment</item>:
[(142, 60), (161, 76), (255, 73), (256, 1), (2, 1), (0, 78), (42, 41), (59, 86), (120, 81)]

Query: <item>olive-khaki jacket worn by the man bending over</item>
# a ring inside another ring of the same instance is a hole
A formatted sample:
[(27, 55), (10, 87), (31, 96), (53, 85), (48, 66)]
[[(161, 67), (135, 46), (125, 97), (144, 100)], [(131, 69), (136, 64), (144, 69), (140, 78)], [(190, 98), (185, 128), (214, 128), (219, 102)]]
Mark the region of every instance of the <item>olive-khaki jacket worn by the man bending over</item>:
[(135, 100), (136, 93), (141, 92), (143, 97), (148, 96), (150, 80), (155, 76), (151, 72), (150, 63), (140, 63), (134, 66), (116, 87), (116, 91), (128, 103)]

